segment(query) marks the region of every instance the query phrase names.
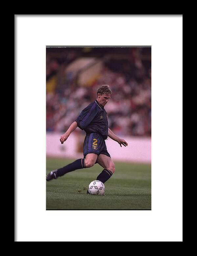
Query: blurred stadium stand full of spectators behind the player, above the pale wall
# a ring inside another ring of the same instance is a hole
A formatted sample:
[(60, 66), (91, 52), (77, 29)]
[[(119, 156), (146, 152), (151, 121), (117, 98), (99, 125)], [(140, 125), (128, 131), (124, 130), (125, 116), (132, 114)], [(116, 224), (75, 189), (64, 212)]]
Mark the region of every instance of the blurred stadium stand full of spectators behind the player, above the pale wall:
[(96, 99), (97, 88), (108, 84), (110, 129), (118, 136), (151, 136), (150, 47), (62, 47), (46, 53), (47, 132), (65, 132)]

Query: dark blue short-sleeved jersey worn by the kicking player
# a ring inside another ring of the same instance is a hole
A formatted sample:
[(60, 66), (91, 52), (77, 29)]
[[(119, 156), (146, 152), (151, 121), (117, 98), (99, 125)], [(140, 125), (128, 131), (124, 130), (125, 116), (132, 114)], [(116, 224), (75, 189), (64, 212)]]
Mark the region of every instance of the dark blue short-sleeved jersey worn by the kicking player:
[(80, 115), (75, 120), (78, 127), (86, 133), (100, 133), (104, 140), (108, 137), (108, 120), (107, 112), (104, 107), (99, 105), (95, 100), (82, 110)]

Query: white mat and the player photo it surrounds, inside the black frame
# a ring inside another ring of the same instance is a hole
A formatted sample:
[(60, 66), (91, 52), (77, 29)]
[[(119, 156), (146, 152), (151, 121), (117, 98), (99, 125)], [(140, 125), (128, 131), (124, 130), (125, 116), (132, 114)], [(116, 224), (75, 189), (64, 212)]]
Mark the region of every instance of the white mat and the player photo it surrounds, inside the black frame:
[(14, 14), (14, 31), (14, 241), (182, 242), (183, 14)]

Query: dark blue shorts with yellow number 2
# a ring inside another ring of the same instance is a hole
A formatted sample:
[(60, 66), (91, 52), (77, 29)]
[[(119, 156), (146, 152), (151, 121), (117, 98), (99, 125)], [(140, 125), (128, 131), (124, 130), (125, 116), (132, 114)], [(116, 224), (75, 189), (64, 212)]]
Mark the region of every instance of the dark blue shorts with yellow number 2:
[(105, 140), (103, 139), (102, 135), (99, 133), (86, 134), (85, 140), (83, 143), (84, 158), (89, 153), (95, 153), (97, 155), (104, 154), (111, 158), (110, 154), (107, 152)]

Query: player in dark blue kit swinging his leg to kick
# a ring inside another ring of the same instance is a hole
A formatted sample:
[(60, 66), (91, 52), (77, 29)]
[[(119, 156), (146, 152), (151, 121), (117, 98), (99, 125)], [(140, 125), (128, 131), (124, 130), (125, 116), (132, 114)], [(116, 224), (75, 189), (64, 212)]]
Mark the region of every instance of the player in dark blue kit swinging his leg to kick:
[[(109, 136), (112, 140), (117, 141), (120, 147), (122, 147), (121, 145), (126, 147), (128, 144), (108, 128), (107, 112), (104, 107), (108, 103), (111, 94), (112, 91), (108, 85), (100, 86), (97, 90), (97, 99), (82, 110), (77, 119), (59, 139), (63, 144), (77, 127), (84, 130), (86, 132), (83, 144), (84, 158), (49, 172), (46, 177), (47, 181), (57, 179), (57, 177), (70, 171), (89, 168), (96, 163), (104, 168), (96, 178), (102, 183), (105, 183), (115, 172), (115, 165), (107, 151), (105, 140)], [(87, 194), (89, 194), (88, 190)]]

